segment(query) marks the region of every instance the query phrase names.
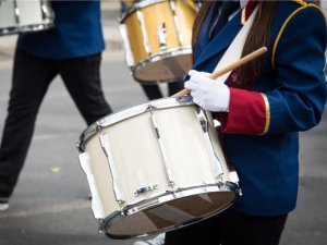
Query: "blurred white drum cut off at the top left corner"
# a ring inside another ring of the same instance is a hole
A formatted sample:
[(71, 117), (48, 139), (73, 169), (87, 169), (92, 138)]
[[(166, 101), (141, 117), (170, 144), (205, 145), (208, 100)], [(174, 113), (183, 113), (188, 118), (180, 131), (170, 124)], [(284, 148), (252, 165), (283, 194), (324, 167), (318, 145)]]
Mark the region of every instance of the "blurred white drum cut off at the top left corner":
[(0, 0), (0, 36), (49, 28), (53, 17), (47, 0)]

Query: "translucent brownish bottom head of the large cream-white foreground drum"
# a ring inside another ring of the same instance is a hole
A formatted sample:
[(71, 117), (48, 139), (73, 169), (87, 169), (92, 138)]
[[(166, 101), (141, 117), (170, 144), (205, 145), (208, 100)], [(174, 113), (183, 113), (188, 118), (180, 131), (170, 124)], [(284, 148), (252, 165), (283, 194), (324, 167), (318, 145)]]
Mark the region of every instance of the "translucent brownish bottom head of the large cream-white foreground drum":
[(237, 198), (233, 192), (196, 194), (154, 205), (131, 216), (107, 219), (106, 234), (111, 238), (130, 238), (175, 230), (202, 221), (230, 207)]

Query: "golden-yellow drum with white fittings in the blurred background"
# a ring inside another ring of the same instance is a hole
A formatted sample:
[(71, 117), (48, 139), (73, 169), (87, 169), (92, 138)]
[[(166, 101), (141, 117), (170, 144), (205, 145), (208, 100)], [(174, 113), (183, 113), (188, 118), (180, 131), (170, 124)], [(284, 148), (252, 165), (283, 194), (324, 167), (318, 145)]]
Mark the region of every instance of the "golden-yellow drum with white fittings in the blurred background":
[(120, 20), (125, 60), (144, 84), (182, 79), (192, 68), (194, 1), (144, 0)]

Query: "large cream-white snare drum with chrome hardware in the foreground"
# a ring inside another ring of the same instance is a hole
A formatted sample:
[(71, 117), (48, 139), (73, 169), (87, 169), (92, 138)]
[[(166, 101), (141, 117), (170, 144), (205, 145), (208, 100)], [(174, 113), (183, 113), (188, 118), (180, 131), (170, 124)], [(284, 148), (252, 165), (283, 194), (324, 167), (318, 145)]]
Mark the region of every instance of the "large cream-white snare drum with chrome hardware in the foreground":
[(165, 232), (230, 207), (239, 179), (209, 114), (190, 97), (112, 113), (77, 143), (100, 230), (113, 238)]

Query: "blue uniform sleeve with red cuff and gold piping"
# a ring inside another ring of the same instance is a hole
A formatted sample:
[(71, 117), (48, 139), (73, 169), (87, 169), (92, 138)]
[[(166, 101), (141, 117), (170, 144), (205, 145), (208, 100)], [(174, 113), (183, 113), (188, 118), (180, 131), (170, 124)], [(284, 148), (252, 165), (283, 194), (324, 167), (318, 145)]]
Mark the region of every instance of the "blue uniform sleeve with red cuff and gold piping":
[(229, 112), (220, 117), (221, 131), (286, 133), (318, 124), (327, 94), (326, 44), (326, 20), (317, 8), (308, 4), (293, 12), (272, 50), (276, 88), (265, 94), (231, 88)]

